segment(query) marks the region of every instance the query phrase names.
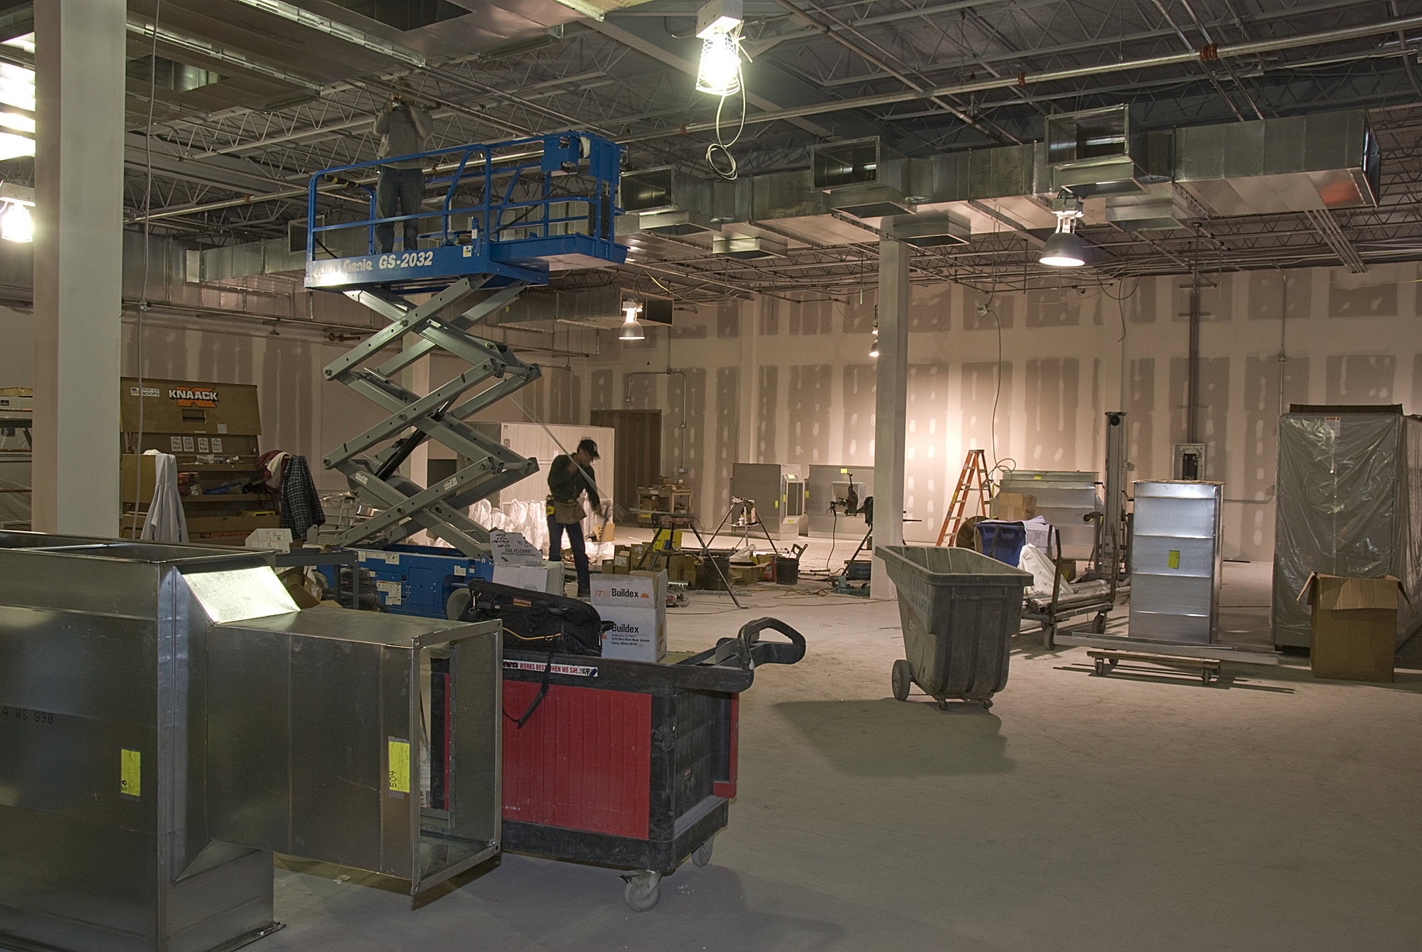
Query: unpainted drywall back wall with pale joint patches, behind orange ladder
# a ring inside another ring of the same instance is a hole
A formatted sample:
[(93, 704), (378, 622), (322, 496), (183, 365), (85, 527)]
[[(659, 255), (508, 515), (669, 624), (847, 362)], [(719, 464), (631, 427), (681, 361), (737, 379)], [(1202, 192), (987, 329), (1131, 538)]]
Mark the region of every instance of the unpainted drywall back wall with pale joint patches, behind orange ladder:
[[(1273, 554), (1277, 418), (1290, 402), (1422, 412), (1419, 278), (1416, 263), (1202, 276), (1199, 432), (1206, 475), (1226, 483), (1227, 557)], [(968, 449), (1017, 469), (1099, 472), (1106, 411), (1129, 413), (1130, 479), (1169, 479), (1172, 445), (1186, 442), (1189, 288), (1189, 277), (1101, 287), (1091, 273), (991, 298), (916, 286), (904, 499), (920, 521), (906, 536), (937, 536)], [(737, 460), (872, 465), (873, 308), (873, 288), (848, 301), (680, 305), (670, 332), (604, 335), (587, 405), (663, 408), (670, 475), (680, 378), (627, 374), (671, 367), (697, 381), (685, 477), (714, 523)]]

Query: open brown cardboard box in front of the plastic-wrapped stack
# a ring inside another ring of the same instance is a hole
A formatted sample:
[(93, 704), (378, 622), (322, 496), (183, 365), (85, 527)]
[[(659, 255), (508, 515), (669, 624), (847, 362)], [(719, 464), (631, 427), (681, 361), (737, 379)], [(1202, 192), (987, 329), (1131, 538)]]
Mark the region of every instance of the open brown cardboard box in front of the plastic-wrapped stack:
[(1314, 678), (1392, 681), (1398, 634), (1398, 580), (1314, 573), (1298, 598), (1313, 607)]

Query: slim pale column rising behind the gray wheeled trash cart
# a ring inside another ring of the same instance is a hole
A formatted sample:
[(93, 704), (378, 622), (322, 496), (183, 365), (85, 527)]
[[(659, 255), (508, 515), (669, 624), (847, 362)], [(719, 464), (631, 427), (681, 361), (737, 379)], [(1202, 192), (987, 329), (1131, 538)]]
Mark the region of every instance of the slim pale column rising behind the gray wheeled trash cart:
[[(875, 367), (875, 547), (903, 544), (903, 456), (909, 416), (909, 251), (879, 242), (879, 358)], [(893, 583), (875, 558), (869, 588), (892, 598)]]

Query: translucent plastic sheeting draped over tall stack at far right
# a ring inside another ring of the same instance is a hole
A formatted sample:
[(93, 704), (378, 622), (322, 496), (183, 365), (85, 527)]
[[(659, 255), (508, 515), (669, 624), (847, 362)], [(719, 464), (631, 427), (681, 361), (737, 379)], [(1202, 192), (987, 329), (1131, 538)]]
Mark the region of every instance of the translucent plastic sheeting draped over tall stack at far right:
[(1276, 645), (1310, 644), (1310, 573), (1396, 575), (1398, 644), (1422, 624), (1422, 419), (1285, 413), (1278, 419), (1274, 529)]

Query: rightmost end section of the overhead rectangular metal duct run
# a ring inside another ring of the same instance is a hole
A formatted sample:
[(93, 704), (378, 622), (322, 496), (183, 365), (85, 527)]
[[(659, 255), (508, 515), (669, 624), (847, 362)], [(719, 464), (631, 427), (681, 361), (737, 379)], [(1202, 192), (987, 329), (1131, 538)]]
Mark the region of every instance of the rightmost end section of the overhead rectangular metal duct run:
[(1371, 206), (1378, 139), (1362, 109), (1177, 129), (1175, 180), (1216, 215)]

